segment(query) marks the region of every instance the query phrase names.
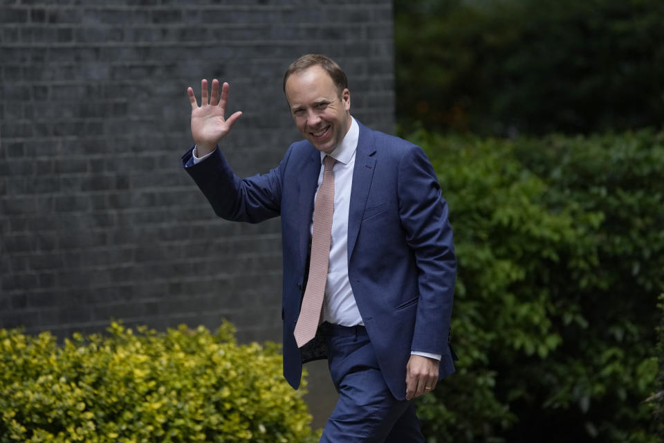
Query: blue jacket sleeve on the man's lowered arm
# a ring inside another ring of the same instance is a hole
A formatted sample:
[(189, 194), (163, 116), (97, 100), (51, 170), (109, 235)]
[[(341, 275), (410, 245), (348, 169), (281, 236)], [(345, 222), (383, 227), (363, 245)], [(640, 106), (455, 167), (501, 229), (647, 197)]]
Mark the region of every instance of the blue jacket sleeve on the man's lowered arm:
[(434, 169), (420, 147), (412, 145), (401, 159), (398, 201), (406, 242), (418, 269), (418, 307), (412, 351), (450, 354), (457, 260), (448, 204)]

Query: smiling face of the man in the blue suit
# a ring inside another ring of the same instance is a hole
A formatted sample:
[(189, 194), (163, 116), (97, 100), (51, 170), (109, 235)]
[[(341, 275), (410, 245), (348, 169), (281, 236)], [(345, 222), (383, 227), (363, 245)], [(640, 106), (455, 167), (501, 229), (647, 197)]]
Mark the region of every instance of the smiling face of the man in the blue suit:
[(317, 150), (331, 153), (351, 127), (351, 93), (339, 89), (320, 66), (286, 80), (286, 100), (300, 134)]

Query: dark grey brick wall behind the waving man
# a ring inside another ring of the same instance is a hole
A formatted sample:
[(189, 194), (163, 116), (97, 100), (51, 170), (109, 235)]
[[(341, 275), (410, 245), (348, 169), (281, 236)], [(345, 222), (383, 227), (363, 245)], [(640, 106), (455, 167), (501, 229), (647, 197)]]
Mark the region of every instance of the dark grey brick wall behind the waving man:
[(0, 0), (0, 327), (281, 337), (279, 221), (218, 219), (179, 159), (187, 86), (228, 81), (225, 141), (266, 172), (298, 135), (281, 90), (302, 53), (347, 71), (353, 114), (394, 126), (391, 2)]

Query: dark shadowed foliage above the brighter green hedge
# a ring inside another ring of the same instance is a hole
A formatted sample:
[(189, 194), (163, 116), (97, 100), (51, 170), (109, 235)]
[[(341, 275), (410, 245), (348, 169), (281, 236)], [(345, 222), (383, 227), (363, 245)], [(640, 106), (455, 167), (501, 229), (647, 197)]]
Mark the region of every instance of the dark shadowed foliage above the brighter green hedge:
[(659, 0), (396, 0), (398, 120), (476, 134), (664, 121)]

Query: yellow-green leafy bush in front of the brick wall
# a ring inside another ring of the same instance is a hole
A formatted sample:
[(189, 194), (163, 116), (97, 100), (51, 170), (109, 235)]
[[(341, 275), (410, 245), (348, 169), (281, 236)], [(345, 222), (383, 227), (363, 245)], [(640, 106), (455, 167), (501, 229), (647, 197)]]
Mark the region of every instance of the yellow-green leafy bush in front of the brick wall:
[(302, 392), (276, 345), (185, 326), (110, 336), (0, 329), (0, 442), (302, 442)]

